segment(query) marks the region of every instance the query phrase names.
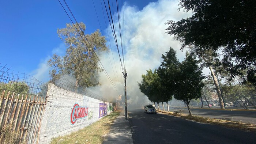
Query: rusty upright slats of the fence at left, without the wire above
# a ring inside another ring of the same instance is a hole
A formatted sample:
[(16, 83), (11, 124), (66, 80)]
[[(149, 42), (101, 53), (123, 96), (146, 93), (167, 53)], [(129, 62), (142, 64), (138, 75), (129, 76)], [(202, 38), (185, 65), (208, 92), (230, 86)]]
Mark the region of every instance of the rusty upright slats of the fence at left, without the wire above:
[(46, 100), (0, 90), (0, 143), (39, 143)]

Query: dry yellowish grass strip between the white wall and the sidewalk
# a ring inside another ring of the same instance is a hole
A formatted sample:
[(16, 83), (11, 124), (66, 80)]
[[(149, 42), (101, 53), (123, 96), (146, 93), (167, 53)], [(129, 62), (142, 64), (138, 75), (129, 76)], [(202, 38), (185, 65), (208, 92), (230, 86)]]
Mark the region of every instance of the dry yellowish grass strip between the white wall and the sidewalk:
[(113, 111), (110, 115), (77, 132), (54, 138), (51, 144), (101, 144), (120, 112), (120, 110)]

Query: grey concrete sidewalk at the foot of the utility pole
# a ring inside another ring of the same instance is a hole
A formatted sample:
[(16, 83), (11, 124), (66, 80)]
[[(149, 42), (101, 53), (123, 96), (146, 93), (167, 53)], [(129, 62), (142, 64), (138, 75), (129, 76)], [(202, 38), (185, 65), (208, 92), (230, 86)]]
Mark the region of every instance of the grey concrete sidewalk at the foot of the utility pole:
[(121, 111), (120, 115), (114, 121), (103, 144), (133, 144), (131, 126), (129, 119), (125, 120), (124, 110)]

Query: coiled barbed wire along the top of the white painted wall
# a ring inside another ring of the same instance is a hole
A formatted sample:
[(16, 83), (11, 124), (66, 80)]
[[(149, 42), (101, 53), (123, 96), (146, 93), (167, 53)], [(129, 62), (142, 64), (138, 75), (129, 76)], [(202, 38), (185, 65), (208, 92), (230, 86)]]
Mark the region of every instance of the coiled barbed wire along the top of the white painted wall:
[(75, 80), (72, 79), (70, 76), (68, 77), (67, 75), (56, 76), (53, 74), (50, 78), (50, 83), (53, 83), (55, 86), (58, 86), (65, 90), (73, 91), (78, 94), (86, 95), (101, 101), (105, 101), (105, 102), (107, 101), (106, 98), (103, 98), (102, 96), (99, 96), (89, 91), (87, 87), (77, 87), (75, 84), (76, 83)]

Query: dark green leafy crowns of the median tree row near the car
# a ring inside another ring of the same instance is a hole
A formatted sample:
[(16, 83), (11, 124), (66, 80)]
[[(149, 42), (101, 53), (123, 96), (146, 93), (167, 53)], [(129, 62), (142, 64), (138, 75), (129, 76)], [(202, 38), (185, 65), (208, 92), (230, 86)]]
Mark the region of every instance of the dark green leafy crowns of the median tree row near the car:
[(189, 105), (192, 99), (200, 98), (204, 77), (196, 57), (187, 53), (180, 63), (176, 51), (170, 47), (162, 58), (154, 73), (149, 69), (142, 75), (142, 82), (138, 83), (140, 91), (153, 102), (168, 102), (174, 96)]

